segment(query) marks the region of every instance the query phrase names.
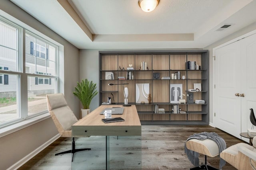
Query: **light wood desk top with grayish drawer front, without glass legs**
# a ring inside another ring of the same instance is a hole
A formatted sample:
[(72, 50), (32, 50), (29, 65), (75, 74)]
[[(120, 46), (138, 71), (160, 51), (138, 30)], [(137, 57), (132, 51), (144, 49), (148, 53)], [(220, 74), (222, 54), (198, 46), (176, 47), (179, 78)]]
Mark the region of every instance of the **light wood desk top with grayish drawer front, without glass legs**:
[(122, 115), (112, 115), (112, 117), (122, 117), (124, 121), (104, 123), (104, 115), (100, 112), (108, 107), (123, 107), (122, 105), (101, 105), (94, 111), (80, 119), (72, 125), (73, 136), (141, 136), (141, 124), (135, 105), (124, 107)]

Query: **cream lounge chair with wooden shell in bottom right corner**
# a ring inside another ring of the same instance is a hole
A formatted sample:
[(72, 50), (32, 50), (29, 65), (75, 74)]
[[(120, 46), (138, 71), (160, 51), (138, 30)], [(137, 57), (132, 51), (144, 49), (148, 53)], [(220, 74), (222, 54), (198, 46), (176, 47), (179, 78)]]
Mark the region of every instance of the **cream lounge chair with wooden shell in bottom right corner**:
[(232, 145), (220, 153), (220, 157), (238, 170), (256, 170), (256, 137), (253, 146), (246, 143)]

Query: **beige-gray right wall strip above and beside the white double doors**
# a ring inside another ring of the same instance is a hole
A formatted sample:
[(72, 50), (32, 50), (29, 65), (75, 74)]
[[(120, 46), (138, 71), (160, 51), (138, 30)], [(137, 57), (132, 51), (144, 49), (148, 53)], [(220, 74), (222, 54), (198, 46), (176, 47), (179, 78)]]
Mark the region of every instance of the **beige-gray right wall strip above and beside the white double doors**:
[(212, 54), (212, 49), (214, 47), (217, 47), (219, 45), (222, 45), (228, 41), (231, 41), (232, 39), (235, 39), (237, 37), (240, 37), (250, 31), (253, 31), (256, 29), (256, 23), (252, 23), (251, 25), (248, 25), (247, 27), (244, 27), (243, 29), (240, 29), (239, 31), (236, 31), (235, 33), (227, 36), (227, 37), (224, 37), (223, 39), (219, 40), (219, 41), (216, 41), (215, 43), (207, 46), (207, 47), (204, 47), (204, 49), (206, 50), (209, 50), (209, 56), (210, 56), (210, 64), (209, 64), (209, 69), (210, 69), (210, 79), (209, 79), (209, 84), (210, 84), (210, 125), (212, 125), (213, 127), (215, 127), (215, 124), (214, 124), (214, 114), (213, 114), (213, 106), (212, 106), (212, 103), (214, 101), (213, 99), (213, 75), (212, 73), (214, 72), (214, 69), (213, 69), (213, 54)]

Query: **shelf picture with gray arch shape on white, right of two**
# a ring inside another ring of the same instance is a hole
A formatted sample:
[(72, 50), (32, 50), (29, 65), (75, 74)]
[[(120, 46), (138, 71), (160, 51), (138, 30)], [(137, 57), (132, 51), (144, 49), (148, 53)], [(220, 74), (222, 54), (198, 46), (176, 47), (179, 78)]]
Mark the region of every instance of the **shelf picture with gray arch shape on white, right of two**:
[(182, 84), (170, 84), (170, 103), (178, 103), (182, 99)]

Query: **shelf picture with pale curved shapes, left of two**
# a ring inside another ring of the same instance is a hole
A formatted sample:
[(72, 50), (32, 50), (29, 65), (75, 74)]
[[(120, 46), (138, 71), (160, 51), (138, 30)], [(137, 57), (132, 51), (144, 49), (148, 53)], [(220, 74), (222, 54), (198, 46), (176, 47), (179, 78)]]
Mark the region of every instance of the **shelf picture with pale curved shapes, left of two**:
[(148, 103), (149, 83), (136, 83), (136, 103)]

